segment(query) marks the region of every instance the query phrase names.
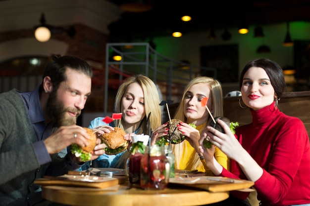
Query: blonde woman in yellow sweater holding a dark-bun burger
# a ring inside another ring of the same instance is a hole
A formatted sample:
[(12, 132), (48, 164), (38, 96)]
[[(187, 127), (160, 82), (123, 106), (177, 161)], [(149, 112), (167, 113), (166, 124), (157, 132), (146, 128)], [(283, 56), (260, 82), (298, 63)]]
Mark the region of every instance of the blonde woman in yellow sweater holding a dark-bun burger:
[[(182, 121), (178, 125), (178, 129), (182, 131), (186, 139), (179, 144), (171, 144), (171, 146), (175, 156), (175, 169), (198, 169), (206, 172), (207, 175), (212, 175), (207, 165), (203, 164), (205, 160), (198, 155), (191, 145), (191, 139), (188, 138), (190, 135), (200, 137), (200, 132), (212, 121), (206, 107), (201, 104), (204, 97), (208, 98), (207, 107), (213, 117), (223, 116), (223, 96), (220, 83), (209, 77), (195, 78), (185, 87), (182, 100), (173, 117)], [(195, 124), (196, 128), (189, 124)], [(163, 124), (155, 130), (156, 138), (168, 135), (165, 126), (166, 124)], [(222, 151), (215, 148), (214, 156), (218, 163), (230, 170), (230, 160)]]

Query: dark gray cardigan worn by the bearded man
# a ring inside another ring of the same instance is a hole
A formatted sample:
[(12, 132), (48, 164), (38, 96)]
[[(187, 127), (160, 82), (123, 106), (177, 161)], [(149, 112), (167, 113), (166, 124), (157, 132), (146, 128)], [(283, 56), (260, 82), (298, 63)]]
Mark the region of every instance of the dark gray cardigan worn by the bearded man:
[(66, 149), (39, 165), (32, 143), (38, 141), (25, 104), (17, 90), (0, 94), (0, 205), (27, 206), (41, 201), (41, 187), (33, 184), (44, 175), (67, 173)]

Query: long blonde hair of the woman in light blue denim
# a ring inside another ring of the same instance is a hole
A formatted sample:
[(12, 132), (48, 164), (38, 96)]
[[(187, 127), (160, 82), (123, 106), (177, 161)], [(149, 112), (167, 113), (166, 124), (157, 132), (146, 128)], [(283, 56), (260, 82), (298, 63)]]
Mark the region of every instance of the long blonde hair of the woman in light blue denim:
[[(158, 93), (155, 83), (147, 76), (138, 74), (138, 75), (127, 78), (120, 85), (120, 87), (117, 90), (116, 97), (115, 97), (114, 112), (115, 113), (121, 112), (122, 98), (124, 96), (126, 88), (128, 87), (129, 84), (135, 83), (135, 82), (141, 86), (143, 93), (144, 93), (144, 106), (145, 106), (146, 116), (148, 116), (149, 113), (151, 112), (151, 116), (150, 116), (151, 128), (148, 127), (147, 132), (146, 132), (148, 134), (150, 129), (153, 131), (159, 125), (161, 125), (161, 107), (159, 105), (161, 100), (159, 99), (159, 93)], [(138, 130), (138, 134), (142, 134), (143, 129), (145, 128), (145, 125), (146, 125), (146, 119), (147, 118), (145, 117), (141, 121), (141, 124), (140, 124), (141, 127)], [(118, 123), (119, 123), (119, 120), (116, 121), (115, 125), (118, 125)], [(120, 127), (124, 129), (122, 124), (120, 124)]]

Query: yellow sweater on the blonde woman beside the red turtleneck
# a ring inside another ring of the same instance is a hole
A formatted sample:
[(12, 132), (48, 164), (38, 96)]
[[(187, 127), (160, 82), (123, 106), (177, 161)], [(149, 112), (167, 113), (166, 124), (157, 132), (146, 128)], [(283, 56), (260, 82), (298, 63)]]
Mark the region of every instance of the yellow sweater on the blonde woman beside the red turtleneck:
[[(196, 126), (196, 129), (202, 132), (202, 130), (206, 127), (206, 125), (207, 123), (198, 125)], [(181, 155), (176, 154), (178, 150), (177, 147), (179, 147), (179, 150), (182, 150)], [(207, 175), (212, 175), (212, 172), (208, 168), (204, 167), (197, 152), (187, 140), (183, 141), (180, 144), (174, 145), (174, 153), (175, 153), (176, 169), (188, 169), (188, 170), (198, 169), (198, 171), (206, 172)], [(220, 165), (230, 170), (230, 160), (217, 147), (215, 147), (214, 157)]]

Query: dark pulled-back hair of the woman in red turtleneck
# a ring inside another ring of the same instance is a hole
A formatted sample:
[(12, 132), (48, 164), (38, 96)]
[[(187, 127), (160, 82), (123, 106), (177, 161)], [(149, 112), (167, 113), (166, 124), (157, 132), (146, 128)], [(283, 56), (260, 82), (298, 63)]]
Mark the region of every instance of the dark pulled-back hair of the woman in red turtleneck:
[(270, 59), (256, 59), (253, 61), (250, 61), (242, 70), (239, 80), (239, 87), (241, 89), (243, 78), (245, 73), (251, 68), (251, 67), (260, 67), (267, 73), (271, 85), (277, 94), (277, 98), (281, 98), (284, 89), (286, 87), (286, 83), (284, 80), (284, 74), (283, 70), (276, 62), (270, 60)]

